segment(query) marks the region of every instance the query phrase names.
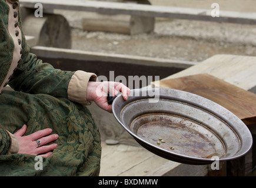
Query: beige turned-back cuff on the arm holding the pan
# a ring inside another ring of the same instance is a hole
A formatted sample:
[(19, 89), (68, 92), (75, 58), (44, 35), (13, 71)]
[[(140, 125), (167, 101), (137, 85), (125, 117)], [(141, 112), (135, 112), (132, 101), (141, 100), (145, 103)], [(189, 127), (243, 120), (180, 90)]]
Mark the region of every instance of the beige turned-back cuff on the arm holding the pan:
[(97, 81), (97, 75), (95, 73), (77, 70), (68, 84), (68, 99), (78, 102), (81, 105), (91, 105), (91, 102), (87, 101), (86, 98), (89, 81)]

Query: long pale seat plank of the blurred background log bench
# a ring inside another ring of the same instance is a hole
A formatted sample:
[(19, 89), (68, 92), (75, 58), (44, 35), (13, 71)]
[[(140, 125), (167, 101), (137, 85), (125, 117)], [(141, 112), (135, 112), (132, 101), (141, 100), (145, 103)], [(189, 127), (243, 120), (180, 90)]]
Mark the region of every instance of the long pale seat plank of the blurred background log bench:
[(256, 24), (256, 14), (254, 12), (220, 11), (220, 17), (212, 17), (212, 9), (142, 5), (123, 2), (95, 2), (76, 0), (20, 0), (20, 2), (21, 5), (26, 8), (34, 8), (36, 3), (41, 3), (46, 13), (48, 11), (52, 12), (52, 9), (68, 9), (74, 11), (98, 12), (101, 14), (126, 14), (172, 19), (195, 19), (201, 21)]

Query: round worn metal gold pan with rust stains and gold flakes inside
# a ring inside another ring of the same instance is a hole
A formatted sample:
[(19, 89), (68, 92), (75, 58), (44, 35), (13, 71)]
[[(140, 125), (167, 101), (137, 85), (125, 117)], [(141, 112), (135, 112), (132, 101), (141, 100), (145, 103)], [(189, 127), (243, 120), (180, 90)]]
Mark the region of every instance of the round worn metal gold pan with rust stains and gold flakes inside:
[(127, 101), (119, 95), (112, 110), (140, 145), (175, 162), (237, 159), (252, 146), (250, 130), (237, 116), (181, 90), (135, 89)]

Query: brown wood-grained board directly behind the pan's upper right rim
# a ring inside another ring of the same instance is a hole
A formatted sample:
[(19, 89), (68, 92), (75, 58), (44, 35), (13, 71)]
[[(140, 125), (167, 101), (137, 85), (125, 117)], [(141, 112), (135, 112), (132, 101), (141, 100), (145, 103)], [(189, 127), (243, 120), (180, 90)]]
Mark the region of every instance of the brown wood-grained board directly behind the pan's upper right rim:
[(161, 88), (185, 90), (230, 110), (245, 124), (256, 123), (256, 95), (208, 74), (159, 81)]

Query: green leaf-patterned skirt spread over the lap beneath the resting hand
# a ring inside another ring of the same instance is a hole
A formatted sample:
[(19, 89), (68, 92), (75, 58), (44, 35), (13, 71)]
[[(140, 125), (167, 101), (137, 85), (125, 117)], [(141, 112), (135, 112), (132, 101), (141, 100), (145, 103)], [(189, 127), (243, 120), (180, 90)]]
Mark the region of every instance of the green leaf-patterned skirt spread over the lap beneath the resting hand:
[[(36, 170), (33, 155), (0, 155), (1, 176), (98, 176), (101, 140), (91, 113), (66, 98), (5, 90), (0, 97), (2, 125), (14, 133), (24, 123), (26, 135), (50, 127), (58, 147)], [(4, 121), (3, 121), (4, 120)]]

